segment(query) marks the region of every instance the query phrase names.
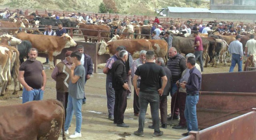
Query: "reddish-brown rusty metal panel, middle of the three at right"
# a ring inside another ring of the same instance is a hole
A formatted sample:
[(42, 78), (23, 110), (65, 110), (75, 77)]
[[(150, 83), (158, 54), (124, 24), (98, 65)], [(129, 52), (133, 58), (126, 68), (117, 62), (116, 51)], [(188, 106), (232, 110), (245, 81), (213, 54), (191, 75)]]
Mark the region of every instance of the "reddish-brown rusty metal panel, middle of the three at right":
[(256, 93), (201, 92), (197, 108), (199, 128), (208, 128), (252, 111)]

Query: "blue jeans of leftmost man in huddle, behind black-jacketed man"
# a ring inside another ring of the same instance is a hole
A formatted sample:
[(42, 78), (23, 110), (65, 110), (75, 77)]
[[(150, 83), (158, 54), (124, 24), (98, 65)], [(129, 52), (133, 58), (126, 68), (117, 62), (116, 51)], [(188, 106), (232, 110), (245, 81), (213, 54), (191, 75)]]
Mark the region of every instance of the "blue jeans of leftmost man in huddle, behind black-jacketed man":
[(106, 80), (108, 116), (114, 116), (115, 90), (112, 88), (112, 82)]

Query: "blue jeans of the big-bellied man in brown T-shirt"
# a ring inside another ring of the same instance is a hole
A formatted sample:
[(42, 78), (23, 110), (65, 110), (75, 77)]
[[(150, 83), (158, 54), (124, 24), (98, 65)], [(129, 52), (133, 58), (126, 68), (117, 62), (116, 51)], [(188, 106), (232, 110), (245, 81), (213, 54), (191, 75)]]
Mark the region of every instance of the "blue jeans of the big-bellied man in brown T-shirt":
[(22, 104), (25, 102), (29, 101), (34, 101), (34, 100), (43, 100), (44, 96), (44, 90), (41, 89), (34, 89), (27, 91), (25, 87), (23, 87), (23, 92), (22, 92)]

